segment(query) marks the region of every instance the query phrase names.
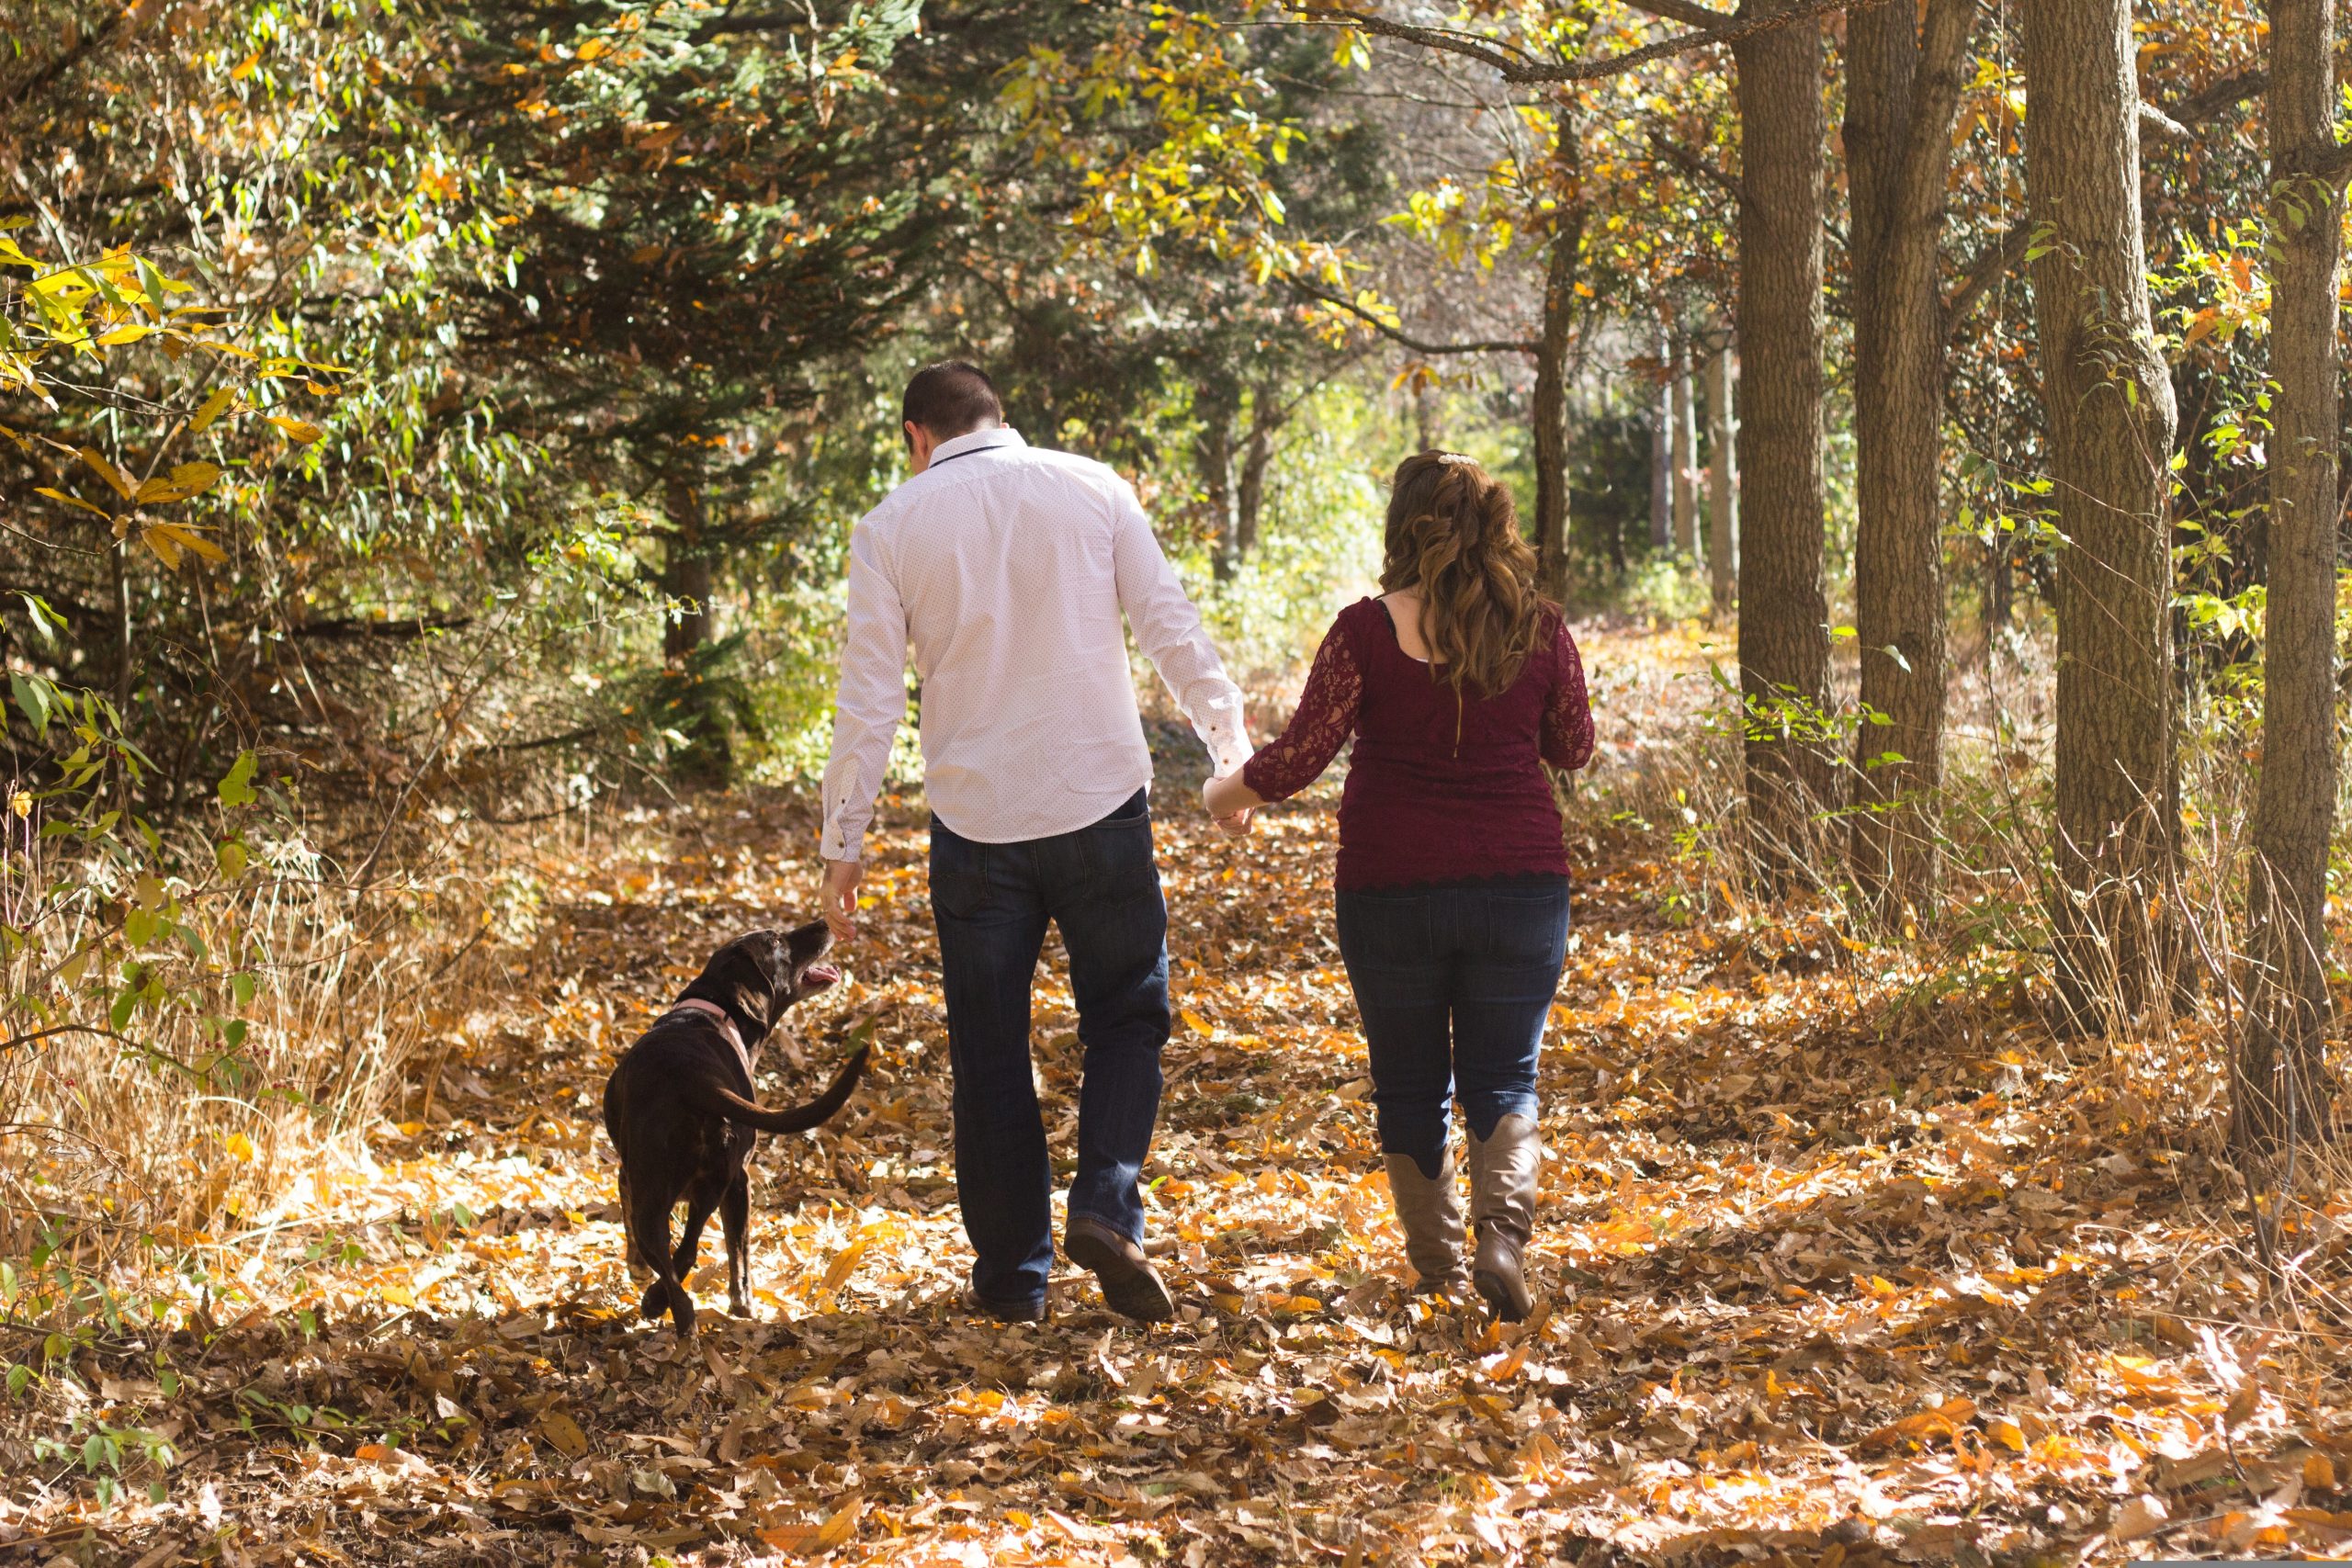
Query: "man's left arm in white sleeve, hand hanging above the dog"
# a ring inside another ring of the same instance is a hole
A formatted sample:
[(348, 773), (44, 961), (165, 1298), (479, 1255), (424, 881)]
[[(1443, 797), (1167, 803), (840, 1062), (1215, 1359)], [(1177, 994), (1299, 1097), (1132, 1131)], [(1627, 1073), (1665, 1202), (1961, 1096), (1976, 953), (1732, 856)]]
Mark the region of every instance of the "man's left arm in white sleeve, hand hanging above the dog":
[(889, 748), (906, 717), (906, 604), (882, 569), (873, 529), (849, 536), (849, 632), (842, 684), (833, 703), (833, 755), (826, 762), (826, 924), (851, 938), (866, 825), (889, 769)]

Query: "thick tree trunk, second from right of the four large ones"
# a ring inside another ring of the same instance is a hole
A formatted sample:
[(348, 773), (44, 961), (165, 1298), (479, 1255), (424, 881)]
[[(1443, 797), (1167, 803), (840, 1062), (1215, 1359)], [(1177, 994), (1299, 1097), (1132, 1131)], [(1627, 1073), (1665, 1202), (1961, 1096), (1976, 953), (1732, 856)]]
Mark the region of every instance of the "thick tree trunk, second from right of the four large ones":
[(2114, 1025), (2171, 976), (2173, 383), (2140, 244), (2131, 0), (2025, 7), (2025, 186), (2058, 529), (2058, 987)]

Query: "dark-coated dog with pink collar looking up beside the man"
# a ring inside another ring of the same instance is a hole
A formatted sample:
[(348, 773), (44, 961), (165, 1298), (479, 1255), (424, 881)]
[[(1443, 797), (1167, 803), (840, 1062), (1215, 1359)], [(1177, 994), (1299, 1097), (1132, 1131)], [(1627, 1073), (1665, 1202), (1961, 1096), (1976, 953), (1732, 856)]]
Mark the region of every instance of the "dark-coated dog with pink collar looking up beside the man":
[[(727, 1227), (727, 1307), (750, 1314), (750, 1180), (743, 1164), (760, 1133), (802, 1133), (849, 1103), (866, 1072), (851, 1051), (826, 1093), (795, 1110), (767, 1110), (750, 1095), (760, 1044), (783, 1011), (842, 978), (818, 964), (833, 945), (823, 922), (797, 931), (753, 931), (710, 954), (703, 973), (621, 1056), (604, 1081), (604, 1131), (621, 1152), (621, 1227), (628, 1260), (654, 1269), (644, 1316), (668, 1309), (680, 1335), (694, 1333), (694, 1272), (703, 1225)], [(687, 1234), (670, 1251), (670, 1208), (687, 1199)]]

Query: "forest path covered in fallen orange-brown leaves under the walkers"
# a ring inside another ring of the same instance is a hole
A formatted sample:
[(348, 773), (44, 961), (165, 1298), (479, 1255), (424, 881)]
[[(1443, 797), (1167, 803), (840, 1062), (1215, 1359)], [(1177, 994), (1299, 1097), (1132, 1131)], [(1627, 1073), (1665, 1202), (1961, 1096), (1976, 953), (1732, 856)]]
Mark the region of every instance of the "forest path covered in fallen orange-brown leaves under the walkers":
[[(1606, 738), (1632, 722), (1606, 703), (1658, 686), (1599, 691)], [(1581, 832), (1541, 1305), (1496, 1328), (1404, 1293), (1331, 945), (1329, 790), (1240, 844), (1162, 795), (1181, 1016), (1148, 1180), (1183, 1321), (1131, 1326), (1075, 1272), (1044, 1326), (960, 1312), (901, 802), (844, 985), (764, 1063), (764, 1095), (800, 1098), (875, 1025), (851, 1110), (755, 1157), (755, 1319), (717, 1312), (710, 1237), (699, 1342), (642, 1326), (604, 1074), (710, 947), (807, 907), (811, 837), (790, 804), (647, 816), (621, 849), (546, 856), (515, 994), (442, 1020), (430, 1112), (419, 1088), (372, 1178), (322, 1173), (322, 1213), (254, 1253), (263, 1305), (174, 1352), (200, 1415), (172, 1500), (89, 1540), (127, 1561), (230, 1530), (223, 1561), (254, 1563), (1983, 1568), (2246, 1549), (2305, 1528), (2286, 1507), (2326, 1516), (2352, 1472), (2340, 1385), (2293, 1382), (2277, 1347), (2241, 1371), (2218, 1319), (2244, 1274), (2192, 1220), (2178, 1126), (2150, 1131), (2180, 1072), (2154, 1046), (2070, 1063), (2006, 1001), (1922, 999), (1931, 976), (1820, 922), (1675, 926), (1661, 835)], [(1065, 1161), (1054, 950), (1049, 971), (1037, 1072)], [(2100, 1535), (2154, 1528), (2143, 1493), (2194, 1533)]]

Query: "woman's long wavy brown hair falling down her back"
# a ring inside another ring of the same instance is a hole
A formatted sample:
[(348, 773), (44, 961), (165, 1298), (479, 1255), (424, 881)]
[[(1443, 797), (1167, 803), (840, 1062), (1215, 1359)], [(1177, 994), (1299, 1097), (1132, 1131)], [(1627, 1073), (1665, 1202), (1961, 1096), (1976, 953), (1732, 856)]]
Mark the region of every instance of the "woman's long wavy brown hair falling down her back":
[(1458, 451), (1397, 463), (1381, 590), (1421, 595), (1432, 672), (1479, 696), (1519, 679), (1548, 609), (1510, 489)]

